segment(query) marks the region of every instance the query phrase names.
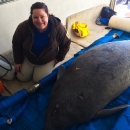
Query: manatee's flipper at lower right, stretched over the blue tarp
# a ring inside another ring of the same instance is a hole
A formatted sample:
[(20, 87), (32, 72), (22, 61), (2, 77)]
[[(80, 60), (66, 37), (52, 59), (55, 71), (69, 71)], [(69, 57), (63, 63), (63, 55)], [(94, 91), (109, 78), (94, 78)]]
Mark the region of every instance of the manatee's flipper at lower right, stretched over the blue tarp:
[(124, 108), (127, 108), (129, 107), (130, 105), (129, 104), (125, 104), (125, 105), (121, 105), (121, 106), (117, 106), (117, 107), (113, 107), (111, 109), (103, 109), (103, 110), (100, 110), (98, 111), (93, 119), (95, 118), (101, 118), (101, 117), (105, 117), (105, 116), (109, 116), (111, 114), (114, 114), (115, 112), (118, 112), (118, 111), (121, 111), (123, 110)]

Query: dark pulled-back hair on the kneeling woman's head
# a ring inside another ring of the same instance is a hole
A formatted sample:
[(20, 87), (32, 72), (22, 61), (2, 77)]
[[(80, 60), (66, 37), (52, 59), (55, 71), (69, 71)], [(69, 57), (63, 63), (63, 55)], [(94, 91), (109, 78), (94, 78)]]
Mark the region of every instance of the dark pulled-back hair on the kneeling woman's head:
[(30, 11), (31, 15), (32, 15), (32, 12), (33, 12), (34, 9), (43, 9), (46, 12), (46, 14), (49, 15), (48, 7), (43, 2), (36, 2), (36, 3), (32, 4), (31, 11)]

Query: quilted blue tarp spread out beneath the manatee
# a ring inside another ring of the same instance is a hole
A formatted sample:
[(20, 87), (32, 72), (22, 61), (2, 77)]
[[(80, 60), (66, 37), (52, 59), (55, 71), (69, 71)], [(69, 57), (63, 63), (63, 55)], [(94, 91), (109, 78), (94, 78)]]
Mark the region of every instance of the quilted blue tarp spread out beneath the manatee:
[[(119, 37), (114, 39), (113, 34), (115, 33)], [(129, 39), (130, 33), (112, 29), (91, 46), (76, 53), (73, 58), (63, 65), (68, 68), (79, 55), (100, 44)], [(32, 94), (28, 94), (23, 89), (12, 96), (1, 96), (0, 130), (44, 130), (45, 113), (53, 84), (56, 81), (58, 68), (43, 78), (40, 81), (42, 88)], [(130, 104), (130, 87), (111, 101), (106, 108), (122, 104)], [(69, 127), (67, 130), (130, 130), (130, 107), (108, 117), (94, 119), (85, 124)]]

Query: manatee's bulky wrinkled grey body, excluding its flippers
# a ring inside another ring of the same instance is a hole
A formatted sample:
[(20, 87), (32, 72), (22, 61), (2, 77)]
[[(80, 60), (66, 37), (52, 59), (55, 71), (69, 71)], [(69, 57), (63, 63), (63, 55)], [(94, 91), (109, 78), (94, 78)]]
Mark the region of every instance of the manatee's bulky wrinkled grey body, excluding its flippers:
[(86, 123), (130, 85), (130, 41), (81, 55), (54, 84), (45, 130)]

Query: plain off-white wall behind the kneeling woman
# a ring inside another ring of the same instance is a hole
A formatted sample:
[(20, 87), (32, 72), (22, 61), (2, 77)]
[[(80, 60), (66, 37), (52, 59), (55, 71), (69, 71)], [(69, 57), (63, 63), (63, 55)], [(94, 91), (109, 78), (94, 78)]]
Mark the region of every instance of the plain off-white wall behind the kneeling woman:
[[(36, 0), (18, 0), (0, 5), (0, 54), (12, 48), (12, 36), (17, 25), (30, 15), (30, 6)], [(49, 12), (66, 24), (69, 15), (100, 5), (110, 0), (39, 0), (49, 8)], [(86, 15), (87, 17), (87, 15)]]

